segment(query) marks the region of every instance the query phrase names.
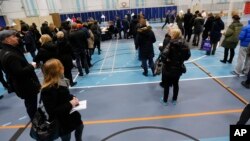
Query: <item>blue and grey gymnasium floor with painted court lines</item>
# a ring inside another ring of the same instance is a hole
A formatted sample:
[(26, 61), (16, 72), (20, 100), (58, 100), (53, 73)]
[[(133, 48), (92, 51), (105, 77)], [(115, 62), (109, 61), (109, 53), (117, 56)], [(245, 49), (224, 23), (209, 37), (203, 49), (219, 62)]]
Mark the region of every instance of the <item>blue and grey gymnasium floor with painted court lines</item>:
[[(152, 25), (156, 56), (165, 35), (161, 25)], [(80, 111), (84, 141), (229, 140), (229, 125), (237, 122), (250, 99), (249, 90), (240, 84), (246, 77), (230, 73), (237, 56), (233, 64), (223, 64), (219, 61), (222, 47), (214, 56), (192, 47), (187, 73), (180, 80), (177, 105), (163, 106), (161, 76), (142, 75), (132, 39), (104, 41), (101, 48), (102, 54), (93, 56), (91, 73), (81, 77), (73, 70), (77, 85), (70, 91), (78, 99), (87, 100), (87, 109)], [(41, 71), (36, 72), (42, 80)], [(4, 94), (0, 100), (0, 140), (32, 140), (30, 126), (25, 128), (29, 121), (23, 101), (0, 89)]]

